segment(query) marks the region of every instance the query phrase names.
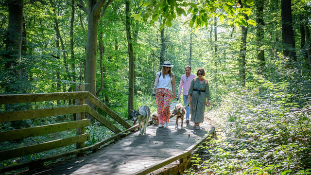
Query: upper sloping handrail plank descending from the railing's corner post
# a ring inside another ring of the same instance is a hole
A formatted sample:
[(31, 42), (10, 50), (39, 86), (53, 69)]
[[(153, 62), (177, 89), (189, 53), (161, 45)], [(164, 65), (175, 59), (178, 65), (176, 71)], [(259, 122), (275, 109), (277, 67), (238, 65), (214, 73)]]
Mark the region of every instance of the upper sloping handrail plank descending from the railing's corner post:
[(127, 123), (125, 120), (123, 120), (117, 113), (115, 113), (113, 110), (111, 110), (109, 107), (107, 107), (103, 102), (98, 100), (98, 98), (96, 98), (93, 94), (88, 93), (87, 100), (89, 102), (91, 102), (93, 105), (96, 105), (97, 107), (102, 109), (106, 114), (108, 114), (110, 117), (112, 117), (118, 123), (120, 123), (126, 129), (131, 127), (131, 125), (129, 123)]

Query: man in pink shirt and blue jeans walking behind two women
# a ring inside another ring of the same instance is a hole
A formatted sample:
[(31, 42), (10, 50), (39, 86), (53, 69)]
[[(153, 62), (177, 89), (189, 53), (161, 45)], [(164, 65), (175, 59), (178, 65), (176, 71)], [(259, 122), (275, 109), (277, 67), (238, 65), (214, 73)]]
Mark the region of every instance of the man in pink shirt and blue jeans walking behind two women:
[(188, 91), (191, 85), (191, 81), (193, 78), (195, 78), (195, 75), (191, 73), (191, 67), (186, 66), (185, 67), (185, 72), (186, 74), (183, 74), (180, 78), (180, 83), (179, 83), (179, 89), (178, 89), (178, 95), (177, 98), (180, 96), (181, 89), (184, 88), (183, 90), (183, 100), (186, 108), (186, 123), (189, 123), (189, 116), (190, 116), (190, 105), (188, 104)]

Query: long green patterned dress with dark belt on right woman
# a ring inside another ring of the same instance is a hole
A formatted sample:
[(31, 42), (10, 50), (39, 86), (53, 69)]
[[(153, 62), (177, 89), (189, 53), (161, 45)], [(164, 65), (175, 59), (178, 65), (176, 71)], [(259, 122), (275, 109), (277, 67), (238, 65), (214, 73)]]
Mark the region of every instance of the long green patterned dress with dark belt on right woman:
[[(204, 121), (206, 99), (209, 99), (208, 82), (205, 85), (205, 81), (200, 83), (198, 78), (196, 78), (195, 82), (193, 79), (188, 91), (188, 94), (192, 95), (192, 113), (190, 121), (194, 123), (203, 123)], [(200, 92), (197, 90), (200, 90)]]

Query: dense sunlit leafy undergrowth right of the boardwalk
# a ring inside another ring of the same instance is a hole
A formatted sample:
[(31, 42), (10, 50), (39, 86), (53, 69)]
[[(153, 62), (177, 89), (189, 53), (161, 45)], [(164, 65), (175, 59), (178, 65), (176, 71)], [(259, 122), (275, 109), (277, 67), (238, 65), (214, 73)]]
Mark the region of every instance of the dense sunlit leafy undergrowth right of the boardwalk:
[(208, 117), (221, 137), (203, 144), (187, 175), (311, 174), (311, 101), (291, 84), (260, 79), (232, 90)]

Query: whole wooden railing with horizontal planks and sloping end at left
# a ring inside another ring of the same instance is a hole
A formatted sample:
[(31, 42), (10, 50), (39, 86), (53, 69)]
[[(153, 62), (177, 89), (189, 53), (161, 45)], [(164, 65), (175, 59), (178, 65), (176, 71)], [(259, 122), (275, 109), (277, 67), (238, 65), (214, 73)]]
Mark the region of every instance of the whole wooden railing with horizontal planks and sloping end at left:
[[(13, 166), (7, 166), (0, 168), (0, 173), (12, 171), (15, 169), (29, 167), (30, 169), (43, 166), (46, 161), (54, 160), (60, 157), (66, 157), (73, 154), (77, 156), (84, 155), (86, 151), (96, 151), (103, 144), (111, 141), (117, 140), (121, 137), (127, 135), (130, 131), (135, 130), (138, 124), (131, 126), (129, 123), (124, 121), (120, 116), (118, 116), (109, 107), (104, 105), (99, 99), (97, 99), (93, 94), (88, 91), (81, 92), (60, 92), (60, 93), (38, 93), (38, 94), (13, 94), (13, 95), (0, 95), (0, 105), (6, 104), (16, 104), (16, 103), (31, 103), (31, 102), (44, 102), (44, 101), (58, 101), (58, 100), (70, 100), (77, 99), (77, 105), (65, 106), (65, 107), (53, 107), (53, 108), (43, 108), (43, 109), (33, 109), (33, 110), (21, 110), (13, 112), (1, 112), (0, 122), (12, 122), (27, 119), (59, 116), (66, 114), (77, 114), (76, 121), (48, 124), (43, 126), (36, 126), (23, 129), (15, 129), (9, 131), (0, 132), (0, 141), (10, 141), (10, 140), (20, 140), (27, 137), (35, 137), (44, 134), (50, 134), (60, 131), (66, 131), (77, 128), (76, 136), (52, 140), (48, 142), (43, 142), (39, 144), (34, 144), (30, 146), (23, 146), (19, 148), (13, 148), (9, 150), (0, 151), (0, 160), (7, 160), (10, 158), (21, 157), (25, 155), (30, 155), (42, 151), (51, 150), (54, 148), (63, 147), (66, 145), (77, 144), (77, 149), (58, 155), (53, 155), (50, 157), (44, 157), (40, 159), (35, 159), (29, 162), (20, 163)], [(110, 123), (101, 114), (94, 110), (89, 105), (85, 105), (84, 101), (87, 100), (96, 107), (102, 109), (107, 115), (113, 118), (115, 121), (120, 123), (126, 129), (121, 131), (114, 124)], [(84, 133), (84, 128), (89, 125), (89, 119), (84, 119), (84, 114), (88, 113), (94, 119), (102, 123), (108, 129), (116, 133), (105, 140), (95, 143), (91, 146), (85, 147), (84, 143), (89, 140), (89, 134)]]

